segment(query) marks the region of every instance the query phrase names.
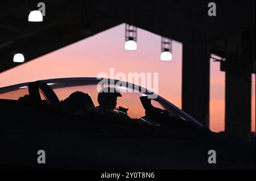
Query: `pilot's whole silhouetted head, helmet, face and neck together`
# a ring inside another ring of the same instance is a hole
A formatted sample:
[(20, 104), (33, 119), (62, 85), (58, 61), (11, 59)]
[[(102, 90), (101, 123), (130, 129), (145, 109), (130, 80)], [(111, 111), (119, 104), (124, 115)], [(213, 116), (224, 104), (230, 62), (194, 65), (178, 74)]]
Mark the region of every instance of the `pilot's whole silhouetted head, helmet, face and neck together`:
[(119, 90), (113, 87), (105, 87), (98, 93), (98, 104), (97, 108), (106, 111), (113, 111), (117, 106), (117, 98), (121, 97)]

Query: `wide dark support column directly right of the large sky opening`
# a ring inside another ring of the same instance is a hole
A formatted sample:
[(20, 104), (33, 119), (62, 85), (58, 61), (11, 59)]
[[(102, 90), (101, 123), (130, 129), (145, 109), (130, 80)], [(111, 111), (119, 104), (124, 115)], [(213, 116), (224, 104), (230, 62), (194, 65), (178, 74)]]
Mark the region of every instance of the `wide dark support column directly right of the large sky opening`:
[(200, 37), (183, 43), (182, 109), (209, 127), (209, 45)]

